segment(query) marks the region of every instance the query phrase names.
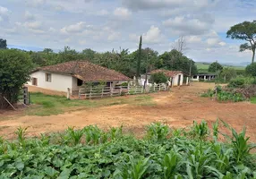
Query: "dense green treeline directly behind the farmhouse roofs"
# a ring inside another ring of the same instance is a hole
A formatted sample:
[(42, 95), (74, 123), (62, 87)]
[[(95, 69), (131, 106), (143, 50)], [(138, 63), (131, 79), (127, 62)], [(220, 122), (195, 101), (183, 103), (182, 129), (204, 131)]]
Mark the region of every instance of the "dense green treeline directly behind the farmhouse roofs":
[[(88, 60), (93, 64), (99, 64), (117, 72), (122, 72), (129, 77), (136, 75), (138, 51), (132, 53), (129, 49), (120, 49), (108, 52), (96, 52), (90, 48), (78, 52), (70, 47), (64, 47), (59, 53), (55, 53), (50, 48), (45, 48), (40, 52), (27, 52), (35, 65), (46, 66), (50, 64), (59, 64), (73, 60)], [(145, 73), (147, 66), (148, 71), (155, 69), (178, 70), (186, 74), (190, 73), (192, 64), (192, 74), (197, 73), (197, 67), (192, 59), (189, 59), (181, 52), (173, 49), (158, 55), (158, 52), (151, 48), (141, 49), (141, 73)]]

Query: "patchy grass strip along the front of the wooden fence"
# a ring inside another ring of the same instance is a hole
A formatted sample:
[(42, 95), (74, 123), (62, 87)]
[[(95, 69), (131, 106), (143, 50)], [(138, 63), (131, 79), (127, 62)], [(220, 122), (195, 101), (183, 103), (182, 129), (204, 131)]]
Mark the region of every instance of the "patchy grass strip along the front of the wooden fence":
[(43, 93), (30, 94), (31, 106), (26, 115), (59, 115), (64, 112), (81, 110), (89, 107), (106, 107), (122, 104), (133, 106), (155, 106), (149, 95), (127, 96), (119, 98), (101, 98), (94, 100), (69, 100), (64, 97), (50, 96)]

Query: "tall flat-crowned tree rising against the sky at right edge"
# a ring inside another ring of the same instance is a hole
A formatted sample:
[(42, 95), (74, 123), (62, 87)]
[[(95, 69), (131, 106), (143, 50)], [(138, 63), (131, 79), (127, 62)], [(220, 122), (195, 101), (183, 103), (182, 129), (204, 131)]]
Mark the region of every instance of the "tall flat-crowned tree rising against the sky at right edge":
[(247, 41), (247, 43), (240, 46), (240, 52), (252, 50), (252, 63), (254, 62), (256, 49), (256, 21), (243, 21), (243, 23), (238, 23), (235, 26), (232, 26), (230, 30), (226, 32), (226, 37)]

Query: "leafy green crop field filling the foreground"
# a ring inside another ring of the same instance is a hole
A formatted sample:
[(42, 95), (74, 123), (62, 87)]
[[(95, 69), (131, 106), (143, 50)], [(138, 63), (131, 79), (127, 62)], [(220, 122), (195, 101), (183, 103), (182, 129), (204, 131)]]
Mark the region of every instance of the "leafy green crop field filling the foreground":
[(255, 178), (245, 131), (226, 126), (233, 134), (223, 143), (218, 124), (212, 130), (205, 122), (172, 130), (150, 124), (141, 140), (122, 127), (103, 132), (90, 125), (34, 139), (19, 128), (17, 141), (0, 141), (0, 178)]

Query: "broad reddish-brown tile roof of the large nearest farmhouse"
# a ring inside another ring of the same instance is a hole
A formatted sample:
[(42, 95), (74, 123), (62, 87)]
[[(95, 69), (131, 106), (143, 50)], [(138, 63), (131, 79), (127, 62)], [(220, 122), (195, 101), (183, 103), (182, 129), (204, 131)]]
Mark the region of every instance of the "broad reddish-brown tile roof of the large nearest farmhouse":
[(59, 72), (71, 74), (82, 81), (131, 81), (129, 77), (121, 72), (109, 70), (98, 64), (88, 61), (70, 61), (62, 64), (54, 64), (37, 69), (47, 72)]

